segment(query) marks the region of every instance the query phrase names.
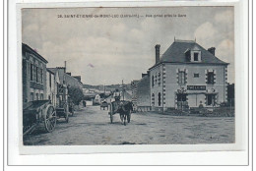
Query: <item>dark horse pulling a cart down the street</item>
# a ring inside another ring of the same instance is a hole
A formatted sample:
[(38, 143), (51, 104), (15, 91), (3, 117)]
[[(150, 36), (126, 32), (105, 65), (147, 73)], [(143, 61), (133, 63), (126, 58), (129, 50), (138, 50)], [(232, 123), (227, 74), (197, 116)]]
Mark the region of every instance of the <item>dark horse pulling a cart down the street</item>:
[(120, 119), (124, 125), (127, 122), (130, 123), (131, 112), (133, 111), (133, 103), (131, 101), (121, 101), (118, 106), (118, 113), (120, 114)]

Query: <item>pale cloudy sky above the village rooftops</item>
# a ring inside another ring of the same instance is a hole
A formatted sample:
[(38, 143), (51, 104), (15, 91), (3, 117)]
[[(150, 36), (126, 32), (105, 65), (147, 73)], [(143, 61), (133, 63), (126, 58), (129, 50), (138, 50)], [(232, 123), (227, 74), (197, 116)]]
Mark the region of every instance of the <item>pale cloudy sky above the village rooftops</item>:
[(232, 7), (23, 9), (22, 41), (48, 61), (48, 68), (67, 61), (67, 72), (84, 84), (112, 85), (140, 80), (156, 62), (156, 44), (163, 54), (174, 37), (196, 39), (205, 49), (216, 47), (216, 56), (229, 63), (227, 82), (234, 83), (233, 24)]

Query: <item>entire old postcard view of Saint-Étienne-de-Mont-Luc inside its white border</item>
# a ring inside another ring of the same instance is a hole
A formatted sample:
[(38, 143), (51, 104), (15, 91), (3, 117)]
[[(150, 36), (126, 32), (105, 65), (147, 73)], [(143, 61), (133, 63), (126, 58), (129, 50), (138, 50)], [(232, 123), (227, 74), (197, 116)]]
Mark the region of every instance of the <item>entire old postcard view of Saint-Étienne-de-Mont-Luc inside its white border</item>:
[(235, 143), (233, 6), (22, 8), (22, 143)]

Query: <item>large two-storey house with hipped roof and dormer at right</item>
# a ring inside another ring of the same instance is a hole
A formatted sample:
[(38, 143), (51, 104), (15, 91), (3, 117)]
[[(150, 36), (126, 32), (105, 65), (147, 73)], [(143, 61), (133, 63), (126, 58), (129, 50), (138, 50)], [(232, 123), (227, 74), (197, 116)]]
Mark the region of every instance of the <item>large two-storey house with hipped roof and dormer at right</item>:
[(227, 65), (195, 41), (174, 40), (149, 69), (153, 110), (214, 107), (227, 100)]

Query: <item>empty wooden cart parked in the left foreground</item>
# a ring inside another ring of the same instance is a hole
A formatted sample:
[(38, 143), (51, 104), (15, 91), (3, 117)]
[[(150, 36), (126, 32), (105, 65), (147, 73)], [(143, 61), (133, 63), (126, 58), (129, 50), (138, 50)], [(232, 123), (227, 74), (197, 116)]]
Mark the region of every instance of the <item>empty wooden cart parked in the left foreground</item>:
[(56, 111), (49, 100), (35, 100), (24, 104), (23, 135), (31, 134), (38, 125), (43, 124), (44, 131), (52, 132), (56, 126)]

